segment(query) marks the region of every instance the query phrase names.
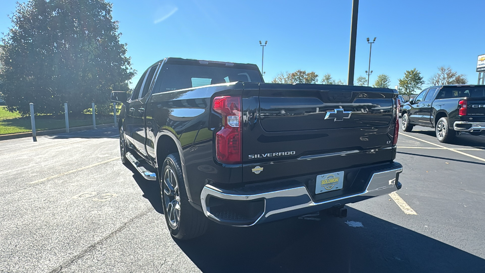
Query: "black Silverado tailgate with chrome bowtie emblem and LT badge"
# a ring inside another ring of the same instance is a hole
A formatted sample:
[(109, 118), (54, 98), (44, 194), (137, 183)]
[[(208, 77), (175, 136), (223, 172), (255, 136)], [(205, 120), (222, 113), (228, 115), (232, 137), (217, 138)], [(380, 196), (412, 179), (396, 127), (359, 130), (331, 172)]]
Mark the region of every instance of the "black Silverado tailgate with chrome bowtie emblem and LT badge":
[(394, 159), (397, 93), (393, 90), (314, 84), (258, 87), (245, 85), (243, 92), (245, 183)]

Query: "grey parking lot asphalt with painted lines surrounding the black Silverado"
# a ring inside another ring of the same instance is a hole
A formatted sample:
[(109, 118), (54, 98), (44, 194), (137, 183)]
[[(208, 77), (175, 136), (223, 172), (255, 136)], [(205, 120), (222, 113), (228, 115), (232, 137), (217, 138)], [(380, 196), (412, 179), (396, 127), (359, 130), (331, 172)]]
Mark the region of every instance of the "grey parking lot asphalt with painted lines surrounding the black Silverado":
[(344, 219), (171, 238), (115, 128), (0, 141), (0, 272), (485, 272), (485, 136), (401, 133), (403, 188)]

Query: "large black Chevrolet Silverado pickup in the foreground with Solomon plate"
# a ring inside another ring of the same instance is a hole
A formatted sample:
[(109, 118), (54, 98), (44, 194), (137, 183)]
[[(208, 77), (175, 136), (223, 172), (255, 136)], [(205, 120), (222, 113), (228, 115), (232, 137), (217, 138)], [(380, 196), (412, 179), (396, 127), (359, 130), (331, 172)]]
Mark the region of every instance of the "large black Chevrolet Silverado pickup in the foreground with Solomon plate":
[(122, 161), (158, 181), (172, 236), (252, 226), (401, 188), (397, 91), (267, 84), (256, 65), (165, 58), (113, 92)]

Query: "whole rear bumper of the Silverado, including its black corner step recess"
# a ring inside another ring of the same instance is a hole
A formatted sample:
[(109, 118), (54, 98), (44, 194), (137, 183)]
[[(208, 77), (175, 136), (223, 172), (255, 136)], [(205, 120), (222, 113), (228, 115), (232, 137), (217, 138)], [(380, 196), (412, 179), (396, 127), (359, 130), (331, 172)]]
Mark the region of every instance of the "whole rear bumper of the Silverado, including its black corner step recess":
[[(200, 198), (204, 214), (209, 219), (226, 225), (251, 226), (394, 192), (402, 187), (398, 181), (402, 171), (403, 166), (394, 162), (388, 169), (373, 172), (363, 192), (323, 202), (314, 202), (302, 184), (283, 189), (261, 188), (257, 191), (248, 191), (247, 188), (229, 190), (208, 184), (202, 189)], [(220, 207), (225, 210), (221, 211)]]

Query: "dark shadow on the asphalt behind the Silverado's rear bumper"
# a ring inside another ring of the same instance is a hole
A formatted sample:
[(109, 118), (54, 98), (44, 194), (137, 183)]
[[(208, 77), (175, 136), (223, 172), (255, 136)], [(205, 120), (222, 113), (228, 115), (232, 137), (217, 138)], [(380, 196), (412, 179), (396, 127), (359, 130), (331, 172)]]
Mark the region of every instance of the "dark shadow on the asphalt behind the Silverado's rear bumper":
[(176, 243), (205, 273), (485, 272), (483, 258), (353, 208), (346, 219), (321, 219), (253, 227), (212, 223), (204, 236)]

